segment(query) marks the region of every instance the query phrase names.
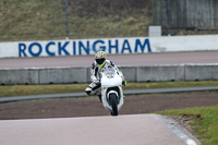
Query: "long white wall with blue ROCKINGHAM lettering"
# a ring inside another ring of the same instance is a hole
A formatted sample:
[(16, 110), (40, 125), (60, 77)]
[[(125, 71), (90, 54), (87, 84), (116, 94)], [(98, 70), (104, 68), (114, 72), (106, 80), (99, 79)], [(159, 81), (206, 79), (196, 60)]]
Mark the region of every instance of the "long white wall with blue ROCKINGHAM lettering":
[(0, 58), (218, 50), (218, 35), (0, 43)]

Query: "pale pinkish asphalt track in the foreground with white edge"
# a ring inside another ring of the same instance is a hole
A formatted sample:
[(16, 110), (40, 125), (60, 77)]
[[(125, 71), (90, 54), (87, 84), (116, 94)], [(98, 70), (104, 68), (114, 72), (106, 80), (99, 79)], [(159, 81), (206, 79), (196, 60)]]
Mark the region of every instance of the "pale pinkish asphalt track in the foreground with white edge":
[(1, 145), (196, 145), (157, 114), (0, 121)]

